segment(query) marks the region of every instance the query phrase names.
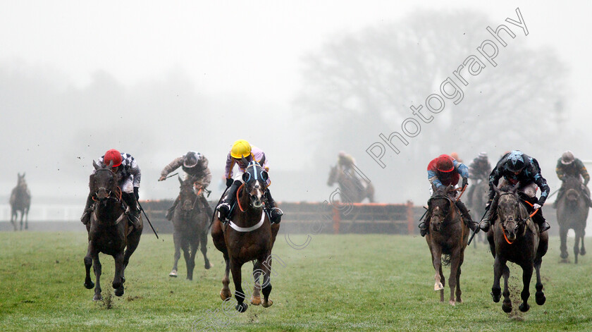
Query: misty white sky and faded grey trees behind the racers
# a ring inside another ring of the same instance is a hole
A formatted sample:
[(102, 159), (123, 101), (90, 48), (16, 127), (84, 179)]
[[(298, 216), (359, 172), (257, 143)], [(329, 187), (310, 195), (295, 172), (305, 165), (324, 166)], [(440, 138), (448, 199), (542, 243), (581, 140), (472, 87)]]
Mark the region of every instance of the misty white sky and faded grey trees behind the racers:
[[(555, 190), (562, 152), (592, 161), (592, 65), (582, 39), (592, 4), (570, 4), (3, 1), (0, 204), (25, 172), (33, 207), (82, 209), (92, 160), (111, 148), (137, 159), (140, 199), (173, 199), (178, 181), (157, 182), (160, 171), (201, 152), (213, 173), (209, 199), (218, 199), (238, 139), (266, 152), (278, 201), (328, 199), (328, 171), (342, 150), (378, 202), (424, 204), (428, 162), (451, 152), (466, 164), (488, 152), (495, 164), (521, 149)], [(527, 36), (505, 22), (517, 20), (517, 7)], [(460, 104), (446, 99), (378, 166), (366, 154), (378, 135), (401, 133), (409, 106), (439, 94), (467, 56), (481, 58), (476, 47), (493, 40), (486, 27), (500, 24), (516, 37), (503, 38), (498, 66), (486, 62), (461, 86)]]

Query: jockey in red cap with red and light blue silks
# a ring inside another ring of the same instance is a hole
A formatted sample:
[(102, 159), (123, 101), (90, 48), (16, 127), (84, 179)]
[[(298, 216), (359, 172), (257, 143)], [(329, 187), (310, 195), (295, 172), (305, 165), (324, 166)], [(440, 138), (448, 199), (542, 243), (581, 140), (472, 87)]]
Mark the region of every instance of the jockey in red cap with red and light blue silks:
[[(428, 164), (428, 180), (431, 183), (430, 194), (432, 192), (436, 192), (439, 187), (457, 185), (461, 177), (462, 187), (467, 186), (469, 182), (469, 168), (456, 161), (456, 159), (453, 159), (451, 156), (448, 156), (448, 154), (442, 154), (438, 156), (438, 158), (430, 161), (430, 164)], [(455, 203), (460, 210), (462, 220), (467, 225), (467, 227), (471, 228), (473, 231), (478, 230), (478, 224), (471, 218), (467, 207), (464, 206), (460, 199), (457, 199)], [(421, 236), (425, 236), (428, 233), (429, 223), (430, 215), (426, 214), (426, 219), (419, 224), (419, 233)]]

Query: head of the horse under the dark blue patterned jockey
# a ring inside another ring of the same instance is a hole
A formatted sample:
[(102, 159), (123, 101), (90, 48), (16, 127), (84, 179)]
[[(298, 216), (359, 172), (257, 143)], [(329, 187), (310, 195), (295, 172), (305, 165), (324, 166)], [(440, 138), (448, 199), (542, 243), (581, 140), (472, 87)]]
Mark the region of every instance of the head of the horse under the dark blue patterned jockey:
[(518, 183), (513, 187), (505, 186), (501, 189), (493, 187), (498, 193), (498, 218), (502, 231), (505, 233), (507, 240), (512, 242), (516, 240), (519, 229), (524, 225), (525, 218), (520, 213), (520, 199), (516, 193)]

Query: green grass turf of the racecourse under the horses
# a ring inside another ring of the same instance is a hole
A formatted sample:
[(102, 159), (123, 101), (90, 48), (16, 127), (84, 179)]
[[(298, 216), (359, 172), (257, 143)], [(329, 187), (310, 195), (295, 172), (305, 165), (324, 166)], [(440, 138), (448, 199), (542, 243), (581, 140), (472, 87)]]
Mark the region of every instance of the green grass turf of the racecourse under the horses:
[[(274, 254), (285, 266), (273, 263), (273, 306), (249, 305), (243, 314), (230, 306), (225, 314), (218, 296), (223, 262), (211, 240), (214, 268), (204, 270), (198, 253), (194, 281), (186, 281), (183, 258), (179, 277), (168, 277), (173, 242), (171, 235), (162, 238), (142, 237), (126, 271), (125, 295), (113, 296), (106, 309), (82, 286), (85, 233), (0, 233), (0, 331), (592, 331), (592, 258), (560, 264), (558, 238), (543, 258), (547, 302), (536, 305), (532, 281), (524, 314), (515, 312), (522, 270), (513, 264), (514, 312), (505, 314), (491, 300), (493, 258), (483, 244), (467, 249), (464, 303), (452, 307), (433, 291), (424, 238), (399, 235), (312, 235), (303, 250), (281, 236)], [(107, 297), (113, 259), (101, 254), (101, 262)], [(243, 267), (243, 278), (250, 269)], [(446, 299), (448, 292), (446, 285)]]

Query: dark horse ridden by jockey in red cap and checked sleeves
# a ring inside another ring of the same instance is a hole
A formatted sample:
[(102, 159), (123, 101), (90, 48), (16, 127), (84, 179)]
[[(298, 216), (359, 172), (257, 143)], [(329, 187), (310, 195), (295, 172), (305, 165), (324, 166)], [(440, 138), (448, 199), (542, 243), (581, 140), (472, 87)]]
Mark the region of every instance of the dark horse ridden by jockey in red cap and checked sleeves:
[[(125, 282), (125, 267), (128, 266), (130, 256), (140, 243), (142, 228), (136, 229), (128, 223), (128, 212), (121, 199), (121, 188), (117, 183), (119, 176), (111, 171), (109, 165), (100, 168), (94, 161), (96, 172), (90, 176), (89, 187), (93, 192), (94, 209), (87, 223), (88, 250), (85, 257), (86, 278), (85, 287), (91, 289), (94, 286), (90, 278), (90, 266), (93, 265), (94, 276), (97, 278), (97, 286), (94, 288), (93, 300), (102, 300), (101, 296), (101, 262), (99, 252), (109, 254), (115, 259), (115, 276), (113, 288), (115, 295), (123, 295), (123, 283)], [(129, 208), (128, 208), (129, 210)], [(140, 219), (142, 225), (142, 219)], [(124, 252), (125, 250), (125, 252)]]

